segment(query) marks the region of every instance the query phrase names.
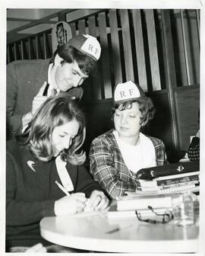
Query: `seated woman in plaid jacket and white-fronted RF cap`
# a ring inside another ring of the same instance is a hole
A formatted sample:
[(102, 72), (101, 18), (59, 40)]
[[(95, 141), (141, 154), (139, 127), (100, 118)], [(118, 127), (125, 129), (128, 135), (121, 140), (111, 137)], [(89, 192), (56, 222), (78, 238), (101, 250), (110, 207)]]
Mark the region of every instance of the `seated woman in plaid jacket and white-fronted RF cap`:
[(98, 136), (90, 146), (90, 173), (109, 197), (136, 190), (141, 168), (167, 163), (163, 142), (140, 132), (154, 112), (153, 102), (139, 85), (129, 81), (115, 87), (115, 129)]

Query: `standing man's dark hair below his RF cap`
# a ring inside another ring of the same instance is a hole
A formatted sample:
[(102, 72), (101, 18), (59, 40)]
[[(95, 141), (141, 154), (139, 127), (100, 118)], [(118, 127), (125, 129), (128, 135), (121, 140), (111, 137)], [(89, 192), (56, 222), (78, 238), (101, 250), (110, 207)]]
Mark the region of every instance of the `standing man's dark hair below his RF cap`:
[(75, 49), (73, 46), (69, 46), (68, 43), (63, 45), (58, 45), (55, 53), (50, 60), (50, 63), (53, 63), (55, 60), (55, 56), (58, 53), (63, 60), (61, 61), (61, 65), (64, 63), (72, 63), (74, 61), (77, 62), (80, 70), (84, 72), (85, 75), (94, 75), (96, 72), (96, 61), (90, 56), (80, 53), (79, 50)]

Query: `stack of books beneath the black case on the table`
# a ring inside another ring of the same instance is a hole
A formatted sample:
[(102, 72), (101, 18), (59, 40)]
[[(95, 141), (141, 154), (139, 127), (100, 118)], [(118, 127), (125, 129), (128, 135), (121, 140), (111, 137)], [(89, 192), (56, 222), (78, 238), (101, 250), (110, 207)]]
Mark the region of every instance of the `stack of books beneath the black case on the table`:
[(158, 193), (166, 194), (181, 192), (184, 190), (199, 190), (199, 171), (178, 173), (153, 178), (152, 181), (143, 179), (137, 180), (137, 191), (142, 194)]

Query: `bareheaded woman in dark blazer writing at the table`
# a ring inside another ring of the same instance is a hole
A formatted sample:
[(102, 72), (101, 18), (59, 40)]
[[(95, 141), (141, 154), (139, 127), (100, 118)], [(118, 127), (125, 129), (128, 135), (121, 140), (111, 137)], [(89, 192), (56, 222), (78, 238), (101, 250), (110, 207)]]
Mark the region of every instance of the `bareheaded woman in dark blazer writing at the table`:
[(44, 216), (108, 206), (99, 184), (78, 166), (85, 160), (84, 152), (77, 152), (84, 137), (84, 114), (74, 100), (57, 96), (42, 104), (21, 136), (8, 141), (7, 251), (26, 251), (39, 242), (47, 251), (61, 251), (40, 236), (39, 222)]

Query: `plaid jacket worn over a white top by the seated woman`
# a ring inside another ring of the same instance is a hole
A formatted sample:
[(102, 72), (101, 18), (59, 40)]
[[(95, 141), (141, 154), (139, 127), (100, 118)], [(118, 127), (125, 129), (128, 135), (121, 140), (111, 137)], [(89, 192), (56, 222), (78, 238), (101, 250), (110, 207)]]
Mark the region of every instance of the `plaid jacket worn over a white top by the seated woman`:
[[(91, 143), (90, 173), (109, 197), (116, 198), (125, 194), (125, 191), (136, 190), (137, 181), (136, 174), (125, 165), (112, 131), (98, 136)], [(164, 143), (160, 139), (148, 137), (156, 152), (156, 165), (167, 164)]]

